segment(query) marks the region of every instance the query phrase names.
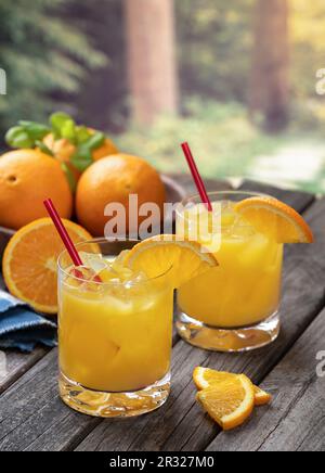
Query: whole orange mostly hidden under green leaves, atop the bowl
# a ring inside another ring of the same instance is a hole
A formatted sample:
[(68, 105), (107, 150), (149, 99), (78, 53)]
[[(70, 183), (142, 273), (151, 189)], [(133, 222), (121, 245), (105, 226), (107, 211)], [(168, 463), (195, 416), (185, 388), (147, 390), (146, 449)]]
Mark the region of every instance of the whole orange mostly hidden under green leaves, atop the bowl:
[[(91, 132), (94, 132), (94, 130), (91, 130)], [(68, 141), (65, 138), (61, 138), (58, 140), (54, 140), (54, 137), (52, 133), (48, 135), (43, 139), (44, 144), (52, 151), (54, 156), (66, 163), (69, 169), (73, 171), (73, 175), (78, 181), (80, 179), (81, 172), (75, 168), (75, 166), (70, 163), (72, 156), (76, 152), (76, 146), (70, 141)], [(118, 153), (118, 149), (115, 146), (112, 140), (109, 138), (106, 138), (102, 146), (98, 148), (92, 152), (92, 158), (93, 161), (102, 159), (103, 157), (109, 156), (110, 154)]]

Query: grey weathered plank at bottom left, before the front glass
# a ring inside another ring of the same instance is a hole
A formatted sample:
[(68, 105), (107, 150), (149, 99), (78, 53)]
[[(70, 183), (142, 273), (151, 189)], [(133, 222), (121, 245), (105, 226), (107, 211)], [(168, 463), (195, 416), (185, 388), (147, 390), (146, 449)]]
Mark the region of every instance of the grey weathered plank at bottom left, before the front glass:
[[(84, 435), (99, 423), (70, 411), (60, 400), (56, 356), (53, 349), (0, 397), (0, 451), (34, 450), (34, 445), (44, 450), (58, 450), (62, 445), (73, 448), (79, 432)], [(61, 425), (58, 437), (47, 437), (43, 445), (42, 435), (55, 431), (56, 422)]]

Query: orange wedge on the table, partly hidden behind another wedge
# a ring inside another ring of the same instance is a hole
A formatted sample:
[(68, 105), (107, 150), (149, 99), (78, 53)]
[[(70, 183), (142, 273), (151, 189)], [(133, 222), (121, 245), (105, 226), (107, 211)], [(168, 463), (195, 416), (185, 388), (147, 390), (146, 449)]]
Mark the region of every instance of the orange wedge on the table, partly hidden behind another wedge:
[[(206, 389), (216, 384), (229, 381), (237, 374), (211, 370), (210, 368), (197, 367), (193, 372), (193, 381), (198, 389)], [(272, 396), (258, 386), (253, 386), (255, 405), (264, 406), (272, 400)]]

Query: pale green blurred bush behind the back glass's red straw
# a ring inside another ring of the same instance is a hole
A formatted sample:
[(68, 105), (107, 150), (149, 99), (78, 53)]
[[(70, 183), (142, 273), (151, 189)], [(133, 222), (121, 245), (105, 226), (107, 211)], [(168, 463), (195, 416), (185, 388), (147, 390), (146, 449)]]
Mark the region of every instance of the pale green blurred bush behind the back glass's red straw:
[(185, 111), (184, 117), (160, 117), (150, 129), (133, 125), (117, 137), (117, 144), (143, 155), (164, 171), (181, 171), (187, 169), (180, 144), (188, 140), (203, 175), (209, 177), (239, 176), (251, 157), (273, 149), (273, 139), (249, 123), (238, 103), (192, 99)]

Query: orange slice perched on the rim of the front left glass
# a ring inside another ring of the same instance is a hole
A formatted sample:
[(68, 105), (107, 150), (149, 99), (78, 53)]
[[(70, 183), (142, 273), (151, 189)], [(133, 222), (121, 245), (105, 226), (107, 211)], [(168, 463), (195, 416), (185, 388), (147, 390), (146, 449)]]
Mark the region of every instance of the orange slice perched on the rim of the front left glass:
[(161, 234), (135, 245), (126, 256), (125, 265), (156, 278), (170, 270), (174, 287), (217, 267), (216, 257), (192, 241), (178, 241), (176, 235)]

